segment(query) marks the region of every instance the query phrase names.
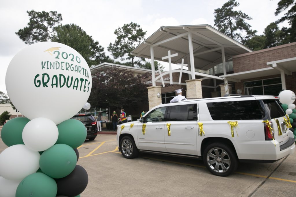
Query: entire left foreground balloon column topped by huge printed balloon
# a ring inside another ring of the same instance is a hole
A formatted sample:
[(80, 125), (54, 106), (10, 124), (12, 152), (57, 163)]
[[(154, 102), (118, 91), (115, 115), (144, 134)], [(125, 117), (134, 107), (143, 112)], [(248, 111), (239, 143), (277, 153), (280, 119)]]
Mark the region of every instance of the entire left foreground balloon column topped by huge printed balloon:
[(6, 89), (26, 117), (13, 118), (1, 130), (8, 146), (0, 154), (0, 196), (80, 196), (88, 175), (76, 165), (86, 139), (73, 117), (91, 92), (91, 72), (83, 57), (67, 45), (35, 43), (12, 58)]

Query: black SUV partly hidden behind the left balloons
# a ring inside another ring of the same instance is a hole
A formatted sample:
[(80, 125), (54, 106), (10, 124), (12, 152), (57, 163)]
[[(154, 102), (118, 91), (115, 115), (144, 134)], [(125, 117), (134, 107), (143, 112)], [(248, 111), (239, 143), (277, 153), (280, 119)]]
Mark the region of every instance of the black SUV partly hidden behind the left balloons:
[(78, 113), (74, 115), (71, 119), (79, 120), (84, 124), (86, 128), (86, 139), (93, 141), (96, 138), (98, 134), (98, 128), (96, 126), (96, 121), (93, 115), (91, 115), (90, 113)]

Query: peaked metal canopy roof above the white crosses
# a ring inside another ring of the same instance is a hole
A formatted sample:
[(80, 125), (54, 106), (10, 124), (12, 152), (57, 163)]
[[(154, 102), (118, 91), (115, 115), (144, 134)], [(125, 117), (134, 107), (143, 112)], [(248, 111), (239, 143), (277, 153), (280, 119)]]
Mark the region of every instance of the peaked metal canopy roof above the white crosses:
[[(154, 59), (156, 60), (167, 61), (162, 60), (162, 57), (167, 56), (168, 50), (170, 50), (171, 54), (178, 53), (178, 56), (171, 58), (173, 64), (181, 63), (182, 58), (184, 58), (185, 64), (189, 64), (189, 58), (187, 58), (189, 56), (188, 32), (192, 34), (194, 66), (196, 69), (207, 70), (222, 63), (222, 47), (225, 50), (226, 61), (232, 56), (252, 52), (249, 48), (210, 25), (186, 25), (160, 27), (137, 46), (131, 54), (151, 58), (150, 46), (152, 46)], [(167, 42), (164, 42), (165, 40)]]

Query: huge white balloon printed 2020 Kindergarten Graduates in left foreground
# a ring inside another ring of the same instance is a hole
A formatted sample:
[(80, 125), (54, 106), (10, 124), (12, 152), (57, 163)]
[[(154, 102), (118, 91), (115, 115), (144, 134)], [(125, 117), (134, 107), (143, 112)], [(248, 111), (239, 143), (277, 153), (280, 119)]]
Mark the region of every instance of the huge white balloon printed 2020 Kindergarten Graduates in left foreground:
[(13, 105), (30, 120), (65, 121), (83, 107), (91, 92), (91, 72), (73, 48), (55, 42), (29, 45), (12, 58), (6, 89)]

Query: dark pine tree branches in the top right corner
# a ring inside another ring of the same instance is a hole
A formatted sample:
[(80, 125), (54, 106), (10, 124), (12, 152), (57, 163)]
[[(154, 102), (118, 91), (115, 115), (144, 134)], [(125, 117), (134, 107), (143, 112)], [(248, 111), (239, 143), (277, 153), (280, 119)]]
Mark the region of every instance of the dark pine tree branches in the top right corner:
[(287, 10), (287, 13), (284, 14), (279, 20), (276, 21), (277, 24), (288, 21), (291, 27), (283, 27), (281, 29), (282, 32), (285, 33), (285, 40), (288, 42), (296, 41), (296, 1), (295, 0), (280, 0), (278, 3), (278, 7), (276, 12), (274, 13), (276, 16), (279, 15), (284, 10)]

